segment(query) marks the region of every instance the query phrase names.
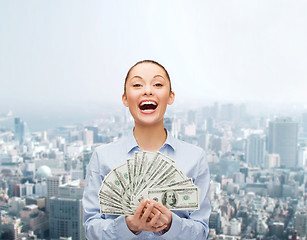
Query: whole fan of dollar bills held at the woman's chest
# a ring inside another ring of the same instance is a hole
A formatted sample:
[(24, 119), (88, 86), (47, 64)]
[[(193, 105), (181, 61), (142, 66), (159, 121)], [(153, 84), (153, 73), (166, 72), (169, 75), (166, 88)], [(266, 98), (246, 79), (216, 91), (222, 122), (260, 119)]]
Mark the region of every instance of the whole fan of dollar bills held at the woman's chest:
[(199, 209), (198, 187), (160, 152), (135, 152), (104, 178), (98, 197), (102, 214), (133, 215), (144, 198), (170, 210)]

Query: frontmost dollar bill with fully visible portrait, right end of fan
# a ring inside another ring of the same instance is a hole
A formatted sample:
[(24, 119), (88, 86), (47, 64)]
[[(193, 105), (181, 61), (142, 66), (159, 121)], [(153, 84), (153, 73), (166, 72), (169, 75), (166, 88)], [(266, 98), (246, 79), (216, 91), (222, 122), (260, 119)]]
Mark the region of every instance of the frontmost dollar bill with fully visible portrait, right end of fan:
[(199, 188), (160, 188), (148, 189), (147, 197), (153, 199), (170, 210), (198, 210)]

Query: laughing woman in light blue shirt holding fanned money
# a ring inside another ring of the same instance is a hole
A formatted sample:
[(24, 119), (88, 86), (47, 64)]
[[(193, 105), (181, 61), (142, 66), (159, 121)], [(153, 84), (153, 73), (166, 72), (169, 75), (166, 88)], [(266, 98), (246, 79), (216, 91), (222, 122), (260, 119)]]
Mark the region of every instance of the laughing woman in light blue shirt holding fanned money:
[[(209, 169), (204, 151), (173, 138), (163, 125), (167, 105), (174, 102), (166, 69), (152, 60), (136, 63), (127, 73), (122, 96), (134, 119), (130, 135), (97, 147), (87, 167), (83, 195), (87, 239), (206, 239), (208, 235)], [(179, 169), (200, 189), (200, 209), (170, 211), (148, 199), (132, 216), (100, 214), (98, 191), (104, 177), (135, 151), (160, 151), (174, 159)]]

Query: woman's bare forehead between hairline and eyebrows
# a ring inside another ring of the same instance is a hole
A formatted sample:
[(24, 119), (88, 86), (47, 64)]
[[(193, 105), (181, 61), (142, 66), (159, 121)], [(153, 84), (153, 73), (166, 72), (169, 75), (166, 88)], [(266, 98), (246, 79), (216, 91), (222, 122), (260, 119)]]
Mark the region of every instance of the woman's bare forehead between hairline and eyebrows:
[(140, 63), (131, 69), (128, 79), (134, 76), (153, 77), (155, 75), (161, 75), (167, 79), (166, 72), (159, 65), (154, 63)]

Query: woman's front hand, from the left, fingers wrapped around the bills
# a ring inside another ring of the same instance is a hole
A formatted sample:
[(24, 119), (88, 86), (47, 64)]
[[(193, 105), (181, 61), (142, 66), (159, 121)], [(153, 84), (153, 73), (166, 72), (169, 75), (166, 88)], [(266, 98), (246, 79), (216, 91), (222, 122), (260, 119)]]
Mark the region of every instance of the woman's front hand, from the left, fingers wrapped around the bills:
[[(149, 206), (146, 208), (146, 205)], [(159, 232), (167, 227), (166, 224), (156, 227), (160, 216), (162, 215), (160, 211), (155, 211), (156, 214), (152, 218), (150, 218), (150, 214), (152, 213), (154, 206), (156, 203), (150, 200), (143, 200), (140, 202), (133, 216), (126, 217), (126, 223), (130, 231), (136, 233), (138, 231), (151, 231), (151, 232)]]

